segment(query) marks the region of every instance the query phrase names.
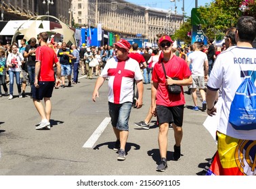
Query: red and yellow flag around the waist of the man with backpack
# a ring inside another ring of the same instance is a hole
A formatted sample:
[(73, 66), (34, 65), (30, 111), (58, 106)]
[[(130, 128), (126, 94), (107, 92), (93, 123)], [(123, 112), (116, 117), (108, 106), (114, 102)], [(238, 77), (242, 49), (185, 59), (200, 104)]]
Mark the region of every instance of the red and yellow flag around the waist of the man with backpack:
[(207, 175), (256, 175), (256, 140), (239, 140), (217, 132), (218, 151)]

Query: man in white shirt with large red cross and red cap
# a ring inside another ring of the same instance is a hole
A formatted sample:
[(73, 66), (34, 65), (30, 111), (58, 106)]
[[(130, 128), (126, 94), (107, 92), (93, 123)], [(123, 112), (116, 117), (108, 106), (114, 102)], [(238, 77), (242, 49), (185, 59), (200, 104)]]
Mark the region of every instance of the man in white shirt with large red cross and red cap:
[(128, 41), (121, 39), (114, 43), (116, 57), (109, 59), (96, 81), (93, 91), (93, 101), (99, 97), (99, 88), (108, 78), (108, 109), (111, 117), (111, 124), (116, 135), (114, 151), (119, 150), (117, 160), (125, 160), (125, 144), (129, 134), (129, 115), (133, 102), (133, 80), (137, 83), (138, 98), (136, 107), (142, 107), (143, 76), (140, 72), (140, 65), (128, 57)]

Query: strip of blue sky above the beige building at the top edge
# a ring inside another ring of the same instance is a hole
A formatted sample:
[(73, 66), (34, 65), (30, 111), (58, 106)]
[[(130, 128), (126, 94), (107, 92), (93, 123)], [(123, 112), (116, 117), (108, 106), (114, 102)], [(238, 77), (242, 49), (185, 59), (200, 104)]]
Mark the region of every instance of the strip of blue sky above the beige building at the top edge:
[[(157, 7), (161, 9), (173, 9), (174, 2), (170, 0), (125, 0), (136, 5), (148, 6), (148, 7)], [(211, 3), (213, 0), (198, 0), (198, 7), (200, 5), (204, 6), (205, 3)], [(182, 14), (183, 0), (176, 0), (177, 14)], [(190, 16), (191, 9), (195, 7), (195, 0), (184, 0), (184, 9), (187, 16)]]

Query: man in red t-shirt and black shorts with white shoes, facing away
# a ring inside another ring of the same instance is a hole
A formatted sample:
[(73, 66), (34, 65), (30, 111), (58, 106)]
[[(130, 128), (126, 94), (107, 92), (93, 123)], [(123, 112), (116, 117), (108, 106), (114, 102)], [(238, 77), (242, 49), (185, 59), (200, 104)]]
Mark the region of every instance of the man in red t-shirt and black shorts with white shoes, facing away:
[[(54, 90), (55, 82), (60, 82), (61, 66), (58, 57), (53, 49), (47, 46), (48, 34), (41, 32), (38, 37), (40, 47), (36, 49), (35, 82), (32, 89), (34, 105), (39, 112), (41, 122), (37, 130), (50, 129), (51, 116), (51, 94)], [(54, 77), (54, 64), (57, 66), (57, 78)], [(41, 100), (45, 101), (45, 109)]]

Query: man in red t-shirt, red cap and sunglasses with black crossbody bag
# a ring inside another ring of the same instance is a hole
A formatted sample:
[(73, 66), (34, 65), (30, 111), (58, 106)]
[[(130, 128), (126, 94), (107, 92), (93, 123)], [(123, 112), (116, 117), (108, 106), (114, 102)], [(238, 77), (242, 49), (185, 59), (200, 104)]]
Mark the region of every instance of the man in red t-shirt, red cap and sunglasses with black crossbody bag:
[[(151, 90), (151, 109), (154, 116), (157, 115), (159, 126), (158, 146), (161, 155), (161, 163), (156, 167), (156, 171), (165, 171), (167, 168), (167, 141), (169, 124), (172, 124), (174, 130), (174, 153), (173, 160), (180, 159), (180, 144), (182, 142), (182, 124), (184, 113), (184, 91), (179, 94), (168, 92), (168, 85), (177, 84), (179, 86), (188, 86), (192, 84), (190, 68), (186, 61), (173, 55), (171, 50), (173, 41), (170, 36), (162, 36), (159, 39), (159, 48), (163, 56), (158, 63), (154, 65), (152, 72), (152, 90)], [(163, 65), (166, 70), (163, 70)], [(176, 78), (177, 80), (173, 80)]]

